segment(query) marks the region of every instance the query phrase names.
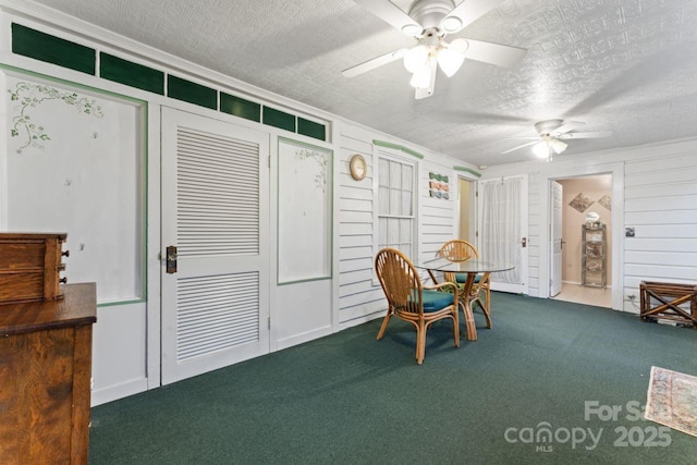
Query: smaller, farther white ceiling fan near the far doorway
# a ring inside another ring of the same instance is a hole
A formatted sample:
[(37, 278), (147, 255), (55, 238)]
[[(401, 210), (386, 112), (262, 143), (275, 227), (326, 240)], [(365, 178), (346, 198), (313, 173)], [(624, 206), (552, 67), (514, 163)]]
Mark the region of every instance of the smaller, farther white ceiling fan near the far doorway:
[(514, 150), (518, 150), (524, 147), (533, 146), (533, 152), (538, 158), (546, 158), (551, 161), (552, 156), (559, 155), (566, 150), (567, 144), (562, 140), (568, 139), (583, 139), (583, 138), (600, 138), (610, 137), (612, 132), (610, 131), (594, 131), (586, 133), (574, 132), (576, 129), (583, 126), (586, 123), (580, 121), (570, 121), (564, 123), (563, 120), (547, 120), (535, 123), (535, 130), (537, 131), (536, 137), (515, 137), (523, 139), (530, 139), (523, 145), (510, 148), (501, 154), (509, 154)]

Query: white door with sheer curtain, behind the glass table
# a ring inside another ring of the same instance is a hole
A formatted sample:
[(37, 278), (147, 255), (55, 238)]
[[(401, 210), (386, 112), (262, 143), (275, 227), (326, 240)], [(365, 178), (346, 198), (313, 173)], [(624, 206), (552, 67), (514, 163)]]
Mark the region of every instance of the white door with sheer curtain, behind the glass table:
[(494, 291), (528, 293), (527, 175), (478, 182), (479, 256), (515, 265), (491, 273)]

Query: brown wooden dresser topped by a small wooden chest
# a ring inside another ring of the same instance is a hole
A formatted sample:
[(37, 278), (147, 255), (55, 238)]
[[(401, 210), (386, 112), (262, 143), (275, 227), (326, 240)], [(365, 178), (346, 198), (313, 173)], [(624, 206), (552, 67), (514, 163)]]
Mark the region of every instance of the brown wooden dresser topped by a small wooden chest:
[(86, 464), (96, 284), (0, 305), (0, 463)]

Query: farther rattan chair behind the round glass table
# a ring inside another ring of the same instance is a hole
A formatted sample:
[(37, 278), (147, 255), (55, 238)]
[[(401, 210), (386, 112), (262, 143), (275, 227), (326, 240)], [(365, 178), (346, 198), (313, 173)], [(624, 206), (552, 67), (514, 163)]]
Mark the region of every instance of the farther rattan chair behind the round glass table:
[[(448, 241), (440, 247), (438, 252), (440, 257), (447, 258), (451, 261), (466, 261), (470, 258), (479, 258), (479, 253), (477, 248), (472, 245), (469, 242), (454, 238), (452, 241)], [(464, 284), (467, 280), (466, 273), (444, 273), (445, 281), (455, 282), (457, 284)], [(489, 273), (479, 273), (475, 278), (475, 284), (472, 287), (472, 292), (469, 295), (463, 294), (463, 289), (461, 286), (461, 298), (468, 298), (469, 304), (473, 305), (475, 303), (479, 304), (481, 311), (484, 313), (485, 318), (487, 319), (487, 328), (491, 329), (491, 314), (490, 314), (490, 305), (491, 305), (491, 281), (489, 278)], [(465, 316), (466, 317), (466, 316)]]

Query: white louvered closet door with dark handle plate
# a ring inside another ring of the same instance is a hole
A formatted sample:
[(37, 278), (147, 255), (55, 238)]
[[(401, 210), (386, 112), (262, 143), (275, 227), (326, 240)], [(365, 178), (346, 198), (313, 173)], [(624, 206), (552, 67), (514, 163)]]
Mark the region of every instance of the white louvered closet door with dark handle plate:
[(162, 111), (162, 383), (269, 352), (269, 136)]

